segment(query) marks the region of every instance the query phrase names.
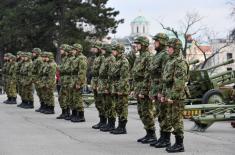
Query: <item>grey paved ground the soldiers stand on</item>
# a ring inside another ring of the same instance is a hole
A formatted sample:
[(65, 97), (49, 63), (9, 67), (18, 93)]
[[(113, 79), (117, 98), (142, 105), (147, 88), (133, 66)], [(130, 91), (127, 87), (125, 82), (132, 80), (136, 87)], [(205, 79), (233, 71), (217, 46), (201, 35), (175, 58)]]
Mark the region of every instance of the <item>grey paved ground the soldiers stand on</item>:
[[(0, 102), (4, 99), (1, 95)], [(135, 106), (129, 107), (128, 134), (121, 136), (91, 129), (97, 121), (94, 106), (85, 110), (87, 122), (80, 124), (56, 120), (59, 112), (58, 103), (55, 115), (0, 104), (0, 155), (167, 154), (164, 149), (136, 142), (144, 130)], [(235, 154), (235, 129), (230, 123), (214, 124), (205, 133), (190, 132), (192, 126), (192, 122), (185, 120), (186, 152), (182, 154)]]

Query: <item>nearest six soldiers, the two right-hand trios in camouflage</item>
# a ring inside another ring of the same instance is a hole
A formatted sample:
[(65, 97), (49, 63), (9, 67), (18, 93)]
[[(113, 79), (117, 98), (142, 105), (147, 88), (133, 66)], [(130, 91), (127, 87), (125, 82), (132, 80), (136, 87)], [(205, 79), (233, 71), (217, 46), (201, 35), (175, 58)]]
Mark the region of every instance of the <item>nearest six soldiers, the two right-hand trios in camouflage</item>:
[[(153, 37), (156, 54), (149, 51), (149, 39), (137, 37), (133, 50), (139, 56), (134, 64), (124, 55), (121, 44), (114, 46), (112, 54), (96, 44), (92, 51), (96, 58), (92, 67), (92, 88), (100, 121), (94, 129), (112, 134), (126, 134), (128, 95), (137, 99), (137, 111), (146, 135), (137, 142), (167, 152), (183, 152), (183, 110), (188, 80), (188, 64), (184, 60), (179, 39), (158, 33)], [(116, 116), (118, 126), (115, 128)], [(160, 138), (155, 134), (158, 117)], [(175, 144), (171, 145), (171, 133)]]

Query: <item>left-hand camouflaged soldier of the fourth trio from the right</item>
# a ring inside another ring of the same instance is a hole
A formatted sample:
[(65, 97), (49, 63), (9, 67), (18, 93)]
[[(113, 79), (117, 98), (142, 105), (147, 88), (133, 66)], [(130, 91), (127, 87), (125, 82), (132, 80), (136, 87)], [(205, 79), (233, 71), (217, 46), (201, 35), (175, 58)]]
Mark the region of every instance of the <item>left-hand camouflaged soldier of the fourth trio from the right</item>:
[(42, 61), (42, 58), (41, 58), (41, 56), (40, 56), (40, 54), (41, 54), (41, 49), (39, 49), (39, 48), (34, 48), (33, 50), (32, 50), (32, 53), (35, 53), (36, 54), (36, 56), (34, 57), (33, 56), (33, 82), (34, 82), (34, 86), (35, 86), (35, 89), (36, 89), (36, 91), (37, 91), (37, 95), (38, 95), (38, 98), (39, 98), (39, 101), (40, 101), (40, 108), (39, 109), (37, 109), (37, 110), (35, 110), (36, 112), (39, 112), (41, 109), (42, 109), (42, 107), (44, 106), (44, 103), (43, 103), (43, 101), (42, 101), (42, 98), (43, 98), (43, 96), (42, 96), (42, 94), (43, 94), (43, 89), (40, 89), (39, 88), (39, 84), (38, 84), (38, 80), (39, 80), (39, 72), (40, 72), (40, 70), (41, 70), (41, 68), (42, 68), (42, 65), (43, 65), (43, 61)]

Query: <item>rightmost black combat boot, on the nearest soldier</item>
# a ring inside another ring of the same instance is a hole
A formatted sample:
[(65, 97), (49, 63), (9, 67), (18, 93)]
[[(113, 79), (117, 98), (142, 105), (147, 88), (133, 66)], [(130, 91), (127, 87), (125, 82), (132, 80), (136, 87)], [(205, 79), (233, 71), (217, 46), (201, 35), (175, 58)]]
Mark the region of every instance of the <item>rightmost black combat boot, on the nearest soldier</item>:
[(173, 146), (167, 147), (166, 151), (168, 153), (184, 152), (183, 137), (175, 136), (175, 144)]

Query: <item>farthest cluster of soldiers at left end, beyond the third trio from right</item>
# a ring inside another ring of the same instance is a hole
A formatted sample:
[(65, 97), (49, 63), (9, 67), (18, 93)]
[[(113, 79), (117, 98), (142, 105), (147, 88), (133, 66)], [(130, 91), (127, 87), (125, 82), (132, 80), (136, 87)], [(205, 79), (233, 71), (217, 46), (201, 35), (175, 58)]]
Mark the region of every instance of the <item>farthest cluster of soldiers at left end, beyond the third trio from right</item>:
[[(40, 56), (39, 56), (40, 55)], [(25, 109), (34, 108), (34, 87), (40, 102), (44, 103), (43, 113), (54, 113), (54, 87), (57, 65), (51, 52), (43, 52), (34, 48), (30, 52), (17, 52), (4, 55), (3, 78), (7, 94), (6, 104), (17, 104), (17, 93), (22, 102), (17, 105)]]

